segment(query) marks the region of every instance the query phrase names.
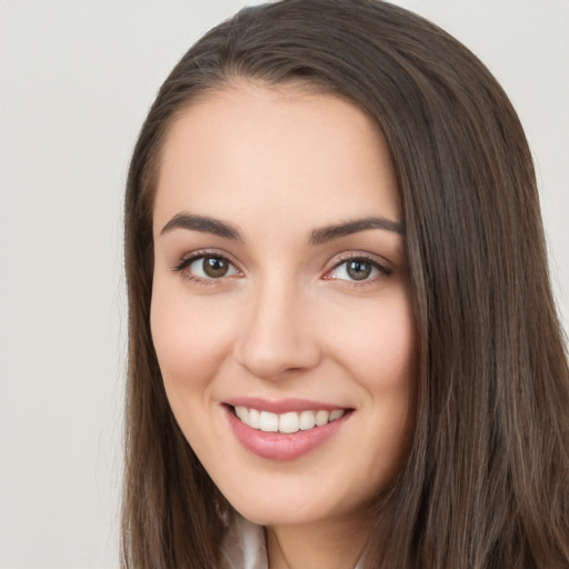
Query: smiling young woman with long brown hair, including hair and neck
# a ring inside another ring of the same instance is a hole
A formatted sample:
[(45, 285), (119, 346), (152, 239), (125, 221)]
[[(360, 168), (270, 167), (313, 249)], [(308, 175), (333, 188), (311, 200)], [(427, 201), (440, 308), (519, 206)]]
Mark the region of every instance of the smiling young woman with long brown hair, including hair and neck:
[(533, 168), (461, 44), (249, 8), (134, 149), (123, 565), (569, 566), (569, 372)]

